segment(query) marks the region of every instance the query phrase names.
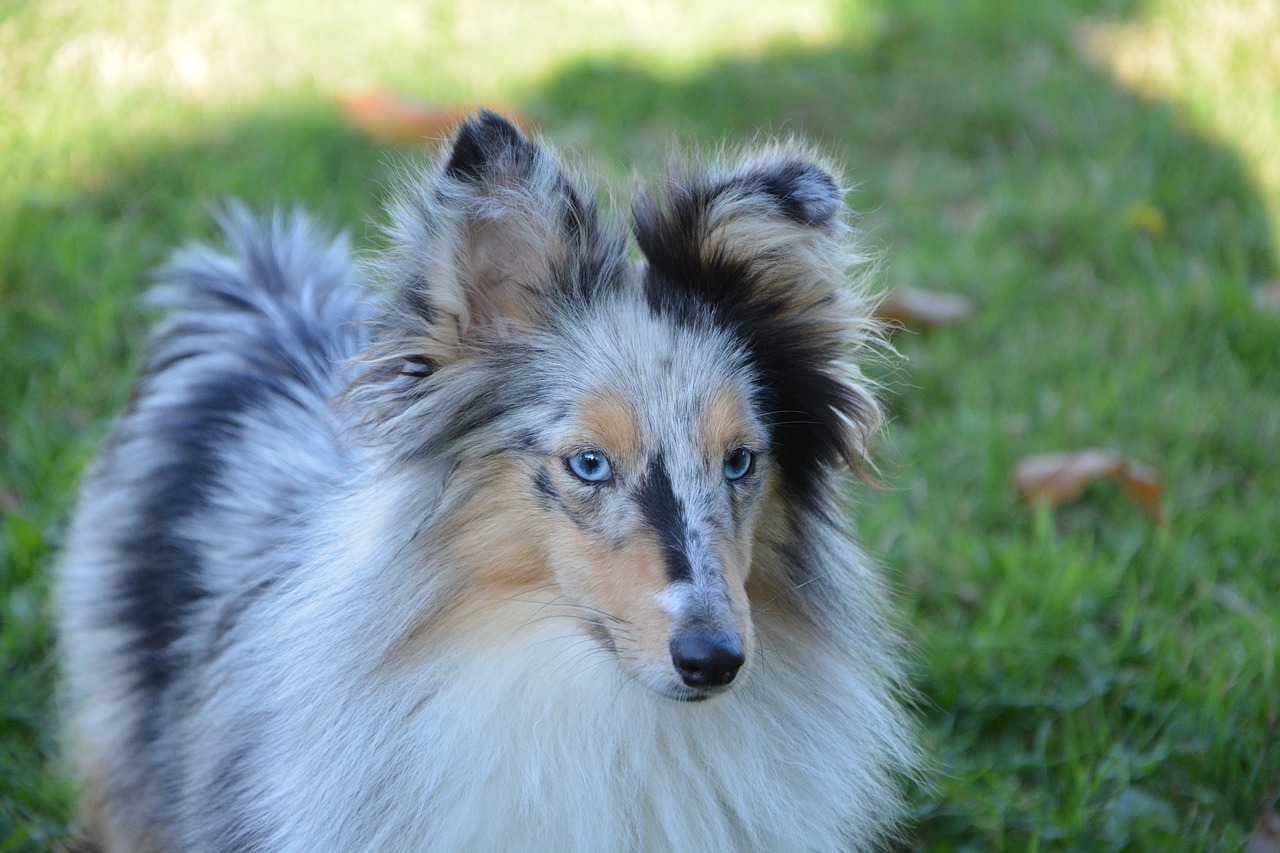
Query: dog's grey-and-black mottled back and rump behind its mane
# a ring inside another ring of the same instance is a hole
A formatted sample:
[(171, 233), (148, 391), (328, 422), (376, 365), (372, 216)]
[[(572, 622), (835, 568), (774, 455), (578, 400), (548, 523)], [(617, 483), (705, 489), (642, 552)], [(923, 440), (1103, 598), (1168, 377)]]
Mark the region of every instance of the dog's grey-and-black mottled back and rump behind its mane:
[(346, 241), (297, 213), (220, 222), (225, 252), (189, 248), (161, 274), (168, 318), (86, 479), (59, 584), (69, 748), (110, 849), (172, 822), (191, 674), (236, 602), (287, 571), (291, 524), (348, 452), (328, 401), (367, 306)]

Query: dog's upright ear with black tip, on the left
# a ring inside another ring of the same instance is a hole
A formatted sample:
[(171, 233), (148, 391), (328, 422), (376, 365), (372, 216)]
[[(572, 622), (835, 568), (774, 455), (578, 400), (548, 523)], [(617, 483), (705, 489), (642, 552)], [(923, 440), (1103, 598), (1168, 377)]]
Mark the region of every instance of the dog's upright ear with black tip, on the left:
[(622, 261), (593, 197), (489, 111), (402, 191), (389, 231), (383, 270), (396, 297), (380, 357), (425, 370), (535, 323), (550, 300), (607, 287)]

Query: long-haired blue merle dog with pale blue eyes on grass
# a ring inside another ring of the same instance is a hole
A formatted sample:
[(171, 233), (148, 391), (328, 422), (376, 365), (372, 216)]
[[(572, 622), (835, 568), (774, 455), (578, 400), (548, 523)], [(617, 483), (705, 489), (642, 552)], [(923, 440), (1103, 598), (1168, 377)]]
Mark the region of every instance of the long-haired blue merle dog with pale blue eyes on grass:
[(842, 521), (881, 414), (832, 174), (794, 146), (634, 210), (483, 113), (366, 288), (232, 209), (61, 566), (105, 850), (845, 850), (915, 761)]

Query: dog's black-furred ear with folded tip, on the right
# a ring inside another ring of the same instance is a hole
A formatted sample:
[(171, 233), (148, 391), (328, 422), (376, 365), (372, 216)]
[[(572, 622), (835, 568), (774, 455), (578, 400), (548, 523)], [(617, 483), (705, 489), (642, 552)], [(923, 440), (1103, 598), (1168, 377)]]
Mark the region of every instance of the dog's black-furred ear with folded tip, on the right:
[(861, 471), (882, 416), (858, 366), (881, 341), (835, 174), (792, 147), (685, 169), (635, 206), (650, 306), (742, 341), (788, 488), (814, 496), (841, 460)]

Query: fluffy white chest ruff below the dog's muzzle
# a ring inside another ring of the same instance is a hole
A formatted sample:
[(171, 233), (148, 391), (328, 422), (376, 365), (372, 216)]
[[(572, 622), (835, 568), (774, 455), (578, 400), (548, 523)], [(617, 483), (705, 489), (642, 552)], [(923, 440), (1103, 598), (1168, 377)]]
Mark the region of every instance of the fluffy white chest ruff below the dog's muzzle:
[[(571, 619), (527, 605), (486, 615), (425, 669), (337, 685), (351, 703), (337, 713), (380, 726), (376, 760), (344, 754), (349, 739), (319, 720), (280, 733), (312, 740), (278, 744), (294, 758), (282, 784), (346, 762), (346, 793), (362, 794), (296, 797), (315, 813), (280, 827), (280, 849), (861, 849), (876, 839), (854, 827), (876, 831), (896, 799), (886, 757), (901, 766), (910, 752), (893, 701), (878, 676), (771, 621), (758, 620), (762, 658), (741, 684), (680, 703), (627, 680)], [(402, 790), (381, 797), (388, 785)]]

